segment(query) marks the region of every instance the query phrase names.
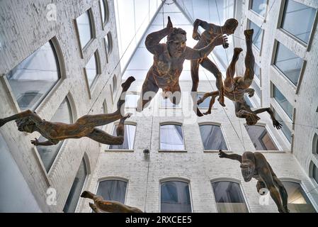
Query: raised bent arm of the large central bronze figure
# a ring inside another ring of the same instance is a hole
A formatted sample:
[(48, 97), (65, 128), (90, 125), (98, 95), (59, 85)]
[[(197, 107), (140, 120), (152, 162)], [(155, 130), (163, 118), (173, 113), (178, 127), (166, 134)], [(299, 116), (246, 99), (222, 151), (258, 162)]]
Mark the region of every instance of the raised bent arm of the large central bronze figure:
[(168, 23), (166, 25), (166, 28), (147, 35), (147, 38), (144, 42), (147, 50), (149, 50), (149, 52), (151, 52), (153, 55), (159, 54), (159, 52), (161, 52), (162, 50), (161, 45), (159, 44), (160, 40), (163, 39), (166, 35), (169, 35), (172, 29), (173, 26), (170, 20), (170, 16), (168, 16)]

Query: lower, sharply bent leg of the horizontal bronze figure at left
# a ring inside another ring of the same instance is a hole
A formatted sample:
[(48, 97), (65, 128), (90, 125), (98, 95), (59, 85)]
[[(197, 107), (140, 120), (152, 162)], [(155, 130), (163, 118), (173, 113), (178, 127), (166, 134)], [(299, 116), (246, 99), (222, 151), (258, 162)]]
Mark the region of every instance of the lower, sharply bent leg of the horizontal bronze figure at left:
[(101, 129), (94, 128), (91, 133), (86, 135), (86, 137), (91, 138), (92, 140), (97, 141), (98, 143), (104, 143), (108, 145), (121, 145), (124, 143), (124, 135), (125, 135), (125, 120), (130, 117), (127, 115), (123, 118), (120, 118), (120, 121), (117, 126), (117, 136), (110, 135)]

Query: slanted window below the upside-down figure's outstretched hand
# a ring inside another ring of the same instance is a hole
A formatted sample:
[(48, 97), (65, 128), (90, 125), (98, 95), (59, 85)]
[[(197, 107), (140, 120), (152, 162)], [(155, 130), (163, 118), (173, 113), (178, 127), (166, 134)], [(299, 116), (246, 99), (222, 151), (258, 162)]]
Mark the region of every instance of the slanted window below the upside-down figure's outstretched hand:
[(263, 126), (245, 126), (256, 150), (277, 150), (271, 136)]

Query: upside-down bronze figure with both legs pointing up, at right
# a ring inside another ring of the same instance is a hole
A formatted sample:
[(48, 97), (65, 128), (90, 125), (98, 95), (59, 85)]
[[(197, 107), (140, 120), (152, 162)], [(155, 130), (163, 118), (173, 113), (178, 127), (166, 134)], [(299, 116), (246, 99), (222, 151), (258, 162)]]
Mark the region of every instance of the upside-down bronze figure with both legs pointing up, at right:
[[(271, 108), (261, 108), (252, 111), (251, 107), (244, 99), (245, 93), (249, 94), (250, 97), (254, 95), (254, 89), (249, 88), (249, 86), (251, 86), (251, 82), (253, 82), (254, 79), (255, 58), (252, 50), (253, 34), (253, 29), (244, 31), (247, 48), (245, 56), (246, 70), (244, 77), (234, 77), (235, 64), (237, 63), (237, 60), (239, 60), (239, 53), (242, 52), (242, 48), (234, 48), (232, 62), (230, 63), (229, 67), (227, 67), (227, 77), (225, 78), (224, 82), (224, 94), (228, 99), (234, 101), (236, 116), (239, 118), (245, 118), (247, 125), (255, 125), (260, 119), (257, 114), (268, 112), (273, 121), (273, 126), (277, 129), (280, 129), (282, 128), (282, 125), (276, 120)], [(204, 114), (211, 114), (212, 105), (215, 103), (215, 97), (218, 95), (219, 92), (217, 91), (209, 92), (205, 93), (203, 97), (198, 100), (199, 105), (209, 96), (211, 96), (209, 109)]]

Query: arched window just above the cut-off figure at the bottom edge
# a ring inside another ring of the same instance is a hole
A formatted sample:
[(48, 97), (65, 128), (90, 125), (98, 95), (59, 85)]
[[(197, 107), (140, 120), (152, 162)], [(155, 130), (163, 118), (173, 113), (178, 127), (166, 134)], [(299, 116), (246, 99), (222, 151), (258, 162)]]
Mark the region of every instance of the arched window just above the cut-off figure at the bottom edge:
[(125, 204), (125, 194), (127, 182), (117, 179), (104, 180), (99, 182), (97, 195), (102, 196), (104, 200), (119, 201)]

